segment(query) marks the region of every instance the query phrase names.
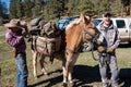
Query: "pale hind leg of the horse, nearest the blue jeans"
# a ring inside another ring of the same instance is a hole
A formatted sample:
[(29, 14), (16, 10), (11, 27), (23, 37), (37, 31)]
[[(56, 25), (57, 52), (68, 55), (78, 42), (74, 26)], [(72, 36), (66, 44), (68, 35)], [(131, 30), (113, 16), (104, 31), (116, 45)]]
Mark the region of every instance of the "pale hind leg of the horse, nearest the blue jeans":
[(37, 52), (32, 50), (33, 53), (33, 69), (34, 69), (34, 77), (37, 78)]

